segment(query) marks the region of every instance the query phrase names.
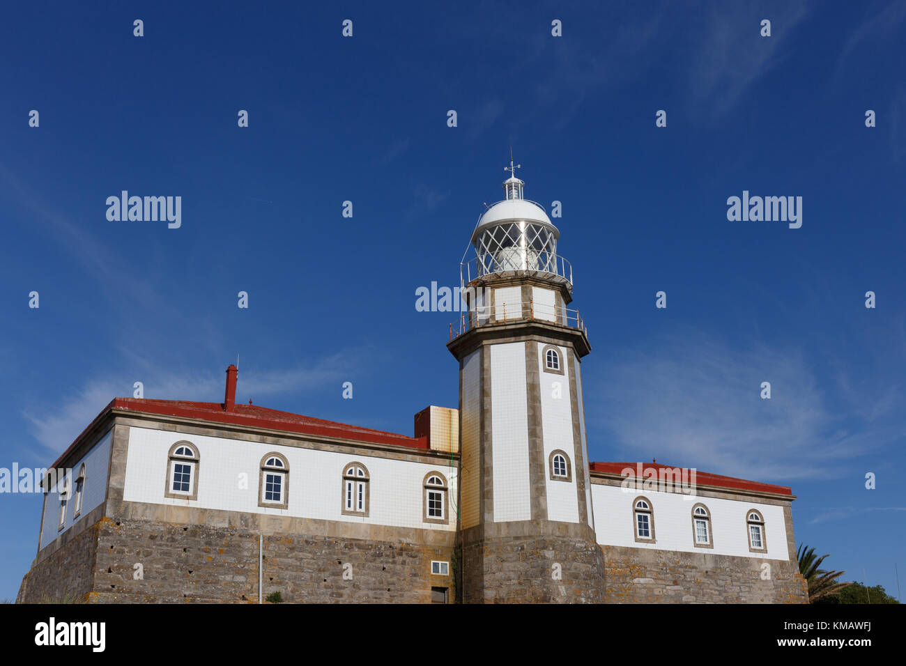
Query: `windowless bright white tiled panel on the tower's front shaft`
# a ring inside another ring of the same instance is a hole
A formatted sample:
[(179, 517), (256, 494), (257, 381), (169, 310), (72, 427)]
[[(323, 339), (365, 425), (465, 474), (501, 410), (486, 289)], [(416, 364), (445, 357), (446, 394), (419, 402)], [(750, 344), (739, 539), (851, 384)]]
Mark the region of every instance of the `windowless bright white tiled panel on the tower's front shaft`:
[(491, 354), (491, 449), (494, 521), (531, 520), (525, 343), (494, 344)]

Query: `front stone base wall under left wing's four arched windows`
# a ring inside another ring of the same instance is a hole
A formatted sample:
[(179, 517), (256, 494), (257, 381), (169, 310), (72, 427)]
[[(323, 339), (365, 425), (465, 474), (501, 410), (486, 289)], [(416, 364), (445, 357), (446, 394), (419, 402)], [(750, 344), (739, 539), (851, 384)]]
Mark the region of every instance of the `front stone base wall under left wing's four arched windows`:
[[(264, 537), (264, 595), (284, 603), (428, 603), (431, 560), (452, 548), (325, 536)], [(142, 578), (135, 577), (140, 564)], [(343, 578), (344, 571), (352, 579)], [(452, 574), (452, 572), (451, 572)], [(105, 520), (98, 533), (93, 602), (257, 603), (258, 535), (228, 526)]]

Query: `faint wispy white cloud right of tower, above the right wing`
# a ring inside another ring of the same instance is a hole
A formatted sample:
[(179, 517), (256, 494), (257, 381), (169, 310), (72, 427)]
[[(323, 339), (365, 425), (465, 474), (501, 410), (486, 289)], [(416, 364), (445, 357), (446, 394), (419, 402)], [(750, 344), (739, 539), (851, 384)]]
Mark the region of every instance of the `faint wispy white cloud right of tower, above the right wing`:
[[(906, 431), (897, 401), (870, 407), (871, 396), (839, 391), (832, 406), (792, 346), (731, 345), (689, 329), (640, 350), (613, 352), (601, 373), (607, 382), (586, 388), (596, 396), (595, 427), (612, 433), (593, 440), (611, 459), (658, 458), (761, 480), (836, 478), (845, 461)], [(760, 398), (762, 381), (771, 383), (770, 400)]]

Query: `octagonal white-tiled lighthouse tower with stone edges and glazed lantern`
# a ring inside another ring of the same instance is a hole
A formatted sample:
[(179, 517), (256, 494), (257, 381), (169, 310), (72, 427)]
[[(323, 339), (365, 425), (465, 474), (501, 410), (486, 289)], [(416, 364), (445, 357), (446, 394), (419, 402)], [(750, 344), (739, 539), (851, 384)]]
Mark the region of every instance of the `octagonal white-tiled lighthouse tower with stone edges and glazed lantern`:
[(459, 515), (466, 602), (602, 602), (581, 359), (591, 351), (560, 232), (523, 198), (478, 220), (461, 265), (467, 314), (450, 328), (459, 362)]

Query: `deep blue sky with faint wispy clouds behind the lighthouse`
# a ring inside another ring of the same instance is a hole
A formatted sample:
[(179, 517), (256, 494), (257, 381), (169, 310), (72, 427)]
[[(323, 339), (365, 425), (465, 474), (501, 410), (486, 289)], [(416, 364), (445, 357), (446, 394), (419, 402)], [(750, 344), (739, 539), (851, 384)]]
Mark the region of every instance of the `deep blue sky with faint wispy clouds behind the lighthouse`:
[[(458, 285), (512, 145), (525, 197), (563, 203), (591, 457), (792, 486), (796, 540), (896, 593), (906, 5), (18, 3), (3, 18), (0, 467), (47, 466), (135, 381), (221, 401), (237, 353), (240, 401), (406, 434), (427, 404), (456, 406), (455, 317), (417, 312), (415, 290)], [(123, 189), (182, 197), (181, 227), (108, 221)], [(801, 196), (802, 227), (728, 221), (743, 190)], [(34, 558), (41, 496), (0, 501), (2, 599)]]

